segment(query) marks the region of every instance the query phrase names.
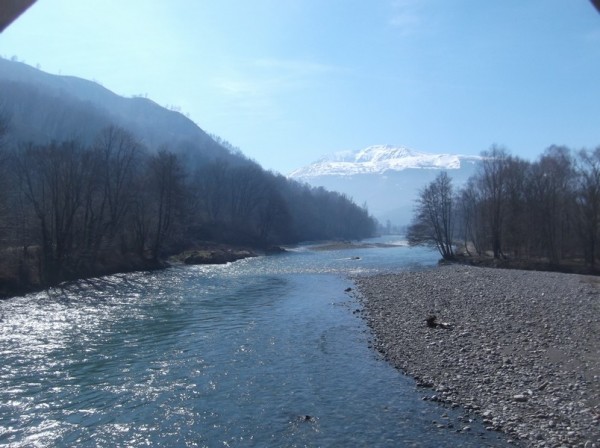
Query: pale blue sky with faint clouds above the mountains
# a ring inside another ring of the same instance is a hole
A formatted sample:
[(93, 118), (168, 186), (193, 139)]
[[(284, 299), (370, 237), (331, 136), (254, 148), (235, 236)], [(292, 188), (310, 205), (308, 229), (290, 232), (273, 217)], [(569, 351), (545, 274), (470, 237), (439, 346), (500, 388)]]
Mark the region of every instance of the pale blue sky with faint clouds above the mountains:
[(373, 144), (600, 145), (588, 0), (38, 0), (0, 54), (177, 106), (284, 174)]

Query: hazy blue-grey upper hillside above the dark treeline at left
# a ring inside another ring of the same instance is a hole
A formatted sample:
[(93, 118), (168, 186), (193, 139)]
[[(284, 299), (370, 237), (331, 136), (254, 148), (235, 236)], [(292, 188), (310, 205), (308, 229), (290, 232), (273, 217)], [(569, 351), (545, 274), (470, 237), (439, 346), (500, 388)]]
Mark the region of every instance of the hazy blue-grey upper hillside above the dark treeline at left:
[(3, 58), (0, 107), (10, 116), (17, 141), (91, 143), (100, 130), (115, 124), (149, 149), (166, 145), (178, 153), (229, 157), (228, 150), (179, 112), (147, 98), (119, 96), (93, 81), (52, 75)]

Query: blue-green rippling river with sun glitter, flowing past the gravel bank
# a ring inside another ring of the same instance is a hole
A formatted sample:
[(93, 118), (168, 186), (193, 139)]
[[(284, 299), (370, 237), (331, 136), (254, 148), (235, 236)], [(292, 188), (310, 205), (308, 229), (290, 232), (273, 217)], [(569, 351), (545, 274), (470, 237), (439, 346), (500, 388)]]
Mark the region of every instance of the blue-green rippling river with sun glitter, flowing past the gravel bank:
[[(360, 257), (360, 259), (353, 259)], [(300, 247), (0, 303), (0, 445), (506, 446), (369, 348), (348, 274), (433, 265)]]

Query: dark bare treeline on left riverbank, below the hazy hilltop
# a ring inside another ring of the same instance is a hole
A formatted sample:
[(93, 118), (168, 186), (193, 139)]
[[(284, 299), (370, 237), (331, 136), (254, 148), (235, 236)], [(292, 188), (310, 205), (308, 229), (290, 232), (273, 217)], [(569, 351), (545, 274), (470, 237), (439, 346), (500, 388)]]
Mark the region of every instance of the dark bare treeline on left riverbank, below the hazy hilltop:
[(344, 195), (239, 156), (149, 151), (118, 127), (91, 145), (0, 146), (0, 295), (157, 265), (205, 241), (266, 248), (363, 238), (374, 227)]

